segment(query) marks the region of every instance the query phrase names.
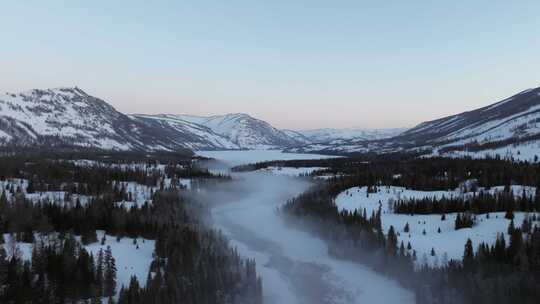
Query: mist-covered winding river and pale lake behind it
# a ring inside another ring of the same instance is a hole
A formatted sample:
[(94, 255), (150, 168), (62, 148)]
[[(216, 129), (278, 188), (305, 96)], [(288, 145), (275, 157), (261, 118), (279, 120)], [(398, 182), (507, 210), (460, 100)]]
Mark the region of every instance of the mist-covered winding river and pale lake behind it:
[[(263, 160), (324, 157), (276, 151), (199, 154), (219, 160), (213, 168), (222, 171)], [(308, 189), (308, 180), (264, 172), (235, 173), (233, 177), (233, 182), (201, 195), (214, 202), (216, 228), (241, 255), (257, 262), (264, 303), (414, 303), (414, 295), (396, 282), (360, 264), (333, 258), (322, 240), (285, 225), (276, 209)]]

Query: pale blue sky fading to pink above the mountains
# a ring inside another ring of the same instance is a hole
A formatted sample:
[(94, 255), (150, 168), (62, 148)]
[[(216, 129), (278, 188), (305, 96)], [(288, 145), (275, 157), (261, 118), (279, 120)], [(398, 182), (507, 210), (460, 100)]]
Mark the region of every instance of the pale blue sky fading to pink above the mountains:
[(539, 16), (540, 1), (2, 1), (0, 91), (413, 126), (540, 86)]

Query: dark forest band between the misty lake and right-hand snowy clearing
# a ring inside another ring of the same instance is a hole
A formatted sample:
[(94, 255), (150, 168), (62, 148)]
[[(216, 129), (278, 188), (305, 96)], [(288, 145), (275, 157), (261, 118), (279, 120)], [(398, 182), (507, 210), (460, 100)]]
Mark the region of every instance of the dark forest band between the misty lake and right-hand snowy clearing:
[[(355, 186), (390, 185), (417, 190), (454, 190), (472, 178), (481, 187), (540, 185), (540, 164), (498, 159), (390, 157), (332, 158), (259, 163), (267, 166), (326, 167), (321, 174), (334, 174), (332, 191)], [(247, 169), (246, 169), (247, 170)], [(471, 189), (472, 190), (472, 189)]]

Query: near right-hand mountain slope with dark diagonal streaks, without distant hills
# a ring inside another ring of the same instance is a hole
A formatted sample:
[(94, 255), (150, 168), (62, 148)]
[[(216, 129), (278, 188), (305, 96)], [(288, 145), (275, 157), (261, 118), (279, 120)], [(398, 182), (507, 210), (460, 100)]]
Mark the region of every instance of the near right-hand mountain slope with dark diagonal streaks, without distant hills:
[(424, 122), (395, 139), (432, 147), (433, 155), (532, 160), (540, 156), (540, 88), (480, 109)]

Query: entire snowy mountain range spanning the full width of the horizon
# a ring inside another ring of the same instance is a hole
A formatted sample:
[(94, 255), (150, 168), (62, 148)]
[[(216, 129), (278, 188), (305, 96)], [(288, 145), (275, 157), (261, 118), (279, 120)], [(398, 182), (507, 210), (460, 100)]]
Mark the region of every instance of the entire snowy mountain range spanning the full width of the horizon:
[(424, 122), (409, 130), (280, 130), (243, 113), (207, 117), (128, 115), (76, 87), (0, 95), (0, 145), (20, 147), (120, 151), (405, 151), (447, 156), (474, 156), (490, 151), (519, 155), (522, 149), (531, 156), (540, 150), (539, 124), (540, 88), (520, 92), (484, 108)]

